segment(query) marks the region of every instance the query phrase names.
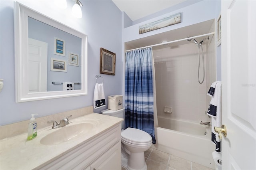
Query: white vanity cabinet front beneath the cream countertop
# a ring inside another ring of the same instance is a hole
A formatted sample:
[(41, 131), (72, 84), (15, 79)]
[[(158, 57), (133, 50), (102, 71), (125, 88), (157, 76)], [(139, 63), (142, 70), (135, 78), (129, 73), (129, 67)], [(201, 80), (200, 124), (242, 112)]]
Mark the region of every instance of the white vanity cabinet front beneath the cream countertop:
[(120, 170), (121, 166), (121, 125), (118, 124), (35, 169)]

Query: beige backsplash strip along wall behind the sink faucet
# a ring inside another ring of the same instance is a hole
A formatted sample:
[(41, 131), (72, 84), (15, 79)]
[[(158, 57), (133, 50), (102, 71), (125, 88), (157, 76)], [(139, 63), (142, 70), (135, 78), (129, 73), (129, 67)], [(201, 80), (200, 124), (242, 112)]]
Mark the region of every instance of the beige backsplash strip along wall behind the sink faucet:
[[(39, 118), (36, 118), (36, 122), (37, 122), (37, 126), (39, 129), (39, 128), (48, 127), (50, 124), (47, 123), (47, 121), (54, 120), (56, 122), (59, 122), (61, 119), (65, 118), (69, 115), (72, 115), (72, 117), (69, 118), (69, 120), (72, 120), (77, 117), (88, 115), (90, 113), (93, 113), (92, 106), (83, 107), (83, 108), (75, 109), (72, 111), (57, 113), (54, 115), (48, 115), (45, 117), (39, 117)], [(1, 132), (0, 140), (27, 133), (29, 122), (30, 122), (30, 120), (27, 120), (27, 121), (17, 122), (17, 123), (13, 123), (13, 124), (9, 124), (9, 125), (0, 126), (0, 132)], [(40, 134), (38, 134), (38, 135), (40, 135)]]

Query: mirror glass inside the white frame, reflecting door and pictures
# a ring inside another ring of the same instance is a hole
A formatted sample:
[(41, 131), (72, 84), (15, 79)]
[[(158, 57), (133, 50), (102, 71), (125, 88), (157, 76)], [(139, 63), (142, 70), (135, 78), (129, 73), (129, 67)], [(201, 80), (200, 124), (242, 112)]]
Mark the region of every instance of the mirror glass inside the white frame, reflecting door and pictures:
[(80, 90), (82, 39), (28, 17), (29, 92)]

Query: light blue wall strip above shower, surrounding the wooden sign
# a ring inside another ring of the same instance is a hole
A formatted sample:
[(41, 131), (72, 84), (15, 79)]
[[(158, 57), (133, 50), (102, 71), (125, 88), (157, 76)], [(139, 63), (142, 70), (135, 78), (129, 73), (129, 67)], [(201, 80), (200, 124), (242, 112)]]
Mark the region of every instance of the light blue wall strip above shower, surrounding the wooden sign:
[[(204, 22), (207, 20), (217, 18), (218, 14), (219, 14), (219, 13), (217, 14), (217, 12), (216, 12), (216, 8), (218, 7), (218, 4), (220, 4), (220, 1), (218, 1), (218, 0), (203, 0), (203, 1), (199, 1), (195, 4), (192, 4), (190, 6), (186, 6), (184, 8), (179, 8), (177, 10), (172, 9), (171, 11), (168, 11), (168, 13), (166, 13), (166, 14), (157, 16), (155, 18), (150, 18), (141, 23), (134, 24), (130, 27), (124, 28), (123, 40), (124, 40), (124, 42), (129, 42), (132, 40), (137, 40), (140, 38), (160, 34), (162, 32), (175, 30), (178, 28), (190, 26), (192, 24), (197, 24), (200, 22)], [(166, 11), (166, 10), (164, 10), (164, 11)], [(161, 28), (158, 30), (154, 30), (151, 32), (147, 32), (144, 34), (139, 34), (139, 31), (138, 31), (139, 26), (141, 26), (143, 24), (148, 24), (150, 22), (154, 22), (156, 20), (162, 19), (163, 17), (170, 16), (170, 15), (173, 15), (173, 14), (176, 14), (179, 12), (181, 13), (181, 23), (175, 24), (172, 26), (168, 26), (165, 28)], [(160, 14), (162, 14), (162, 13), (160, 12)]]

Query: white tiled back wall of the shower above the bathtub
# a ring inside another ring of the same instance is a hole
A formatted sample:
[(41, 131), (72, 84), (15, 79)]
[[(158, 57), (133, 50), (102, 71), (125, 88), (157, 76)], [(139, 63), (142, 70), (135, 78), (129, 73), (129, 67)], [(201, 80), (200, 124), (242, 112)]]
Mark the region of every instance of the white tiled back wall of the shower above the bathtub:
[[(153, 53), (158, 116), (195, 123), (206, 121), (206, 81), (198, 83), (196, 46), (191, 43), (174, 49), (156, 49)], [(172, 107), (172, 113), (164, 112), (166, 106)]]

